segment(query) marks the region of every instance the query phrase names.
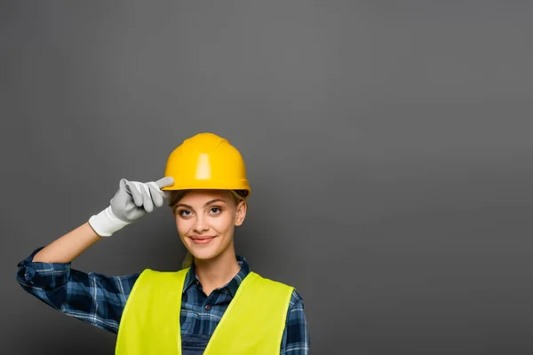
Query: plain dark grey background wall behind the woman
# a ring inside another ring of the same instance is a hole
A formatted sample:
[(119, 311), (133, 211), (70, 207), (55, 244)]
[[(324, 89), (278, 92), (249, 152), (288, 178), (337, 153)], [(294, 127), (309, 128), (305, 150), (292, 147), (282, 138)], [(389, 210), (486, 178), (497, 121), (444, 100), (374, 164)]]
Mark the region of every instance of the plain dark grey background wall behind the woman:
[[(213, 131), (247, 163), (237, 252), (304, 297), (314, 354), (530, 354), (533, 4), (0, 5), (2, 353), (113, 353), (16, 264)], [(86, 272), (172, 270), (163, 208)]]

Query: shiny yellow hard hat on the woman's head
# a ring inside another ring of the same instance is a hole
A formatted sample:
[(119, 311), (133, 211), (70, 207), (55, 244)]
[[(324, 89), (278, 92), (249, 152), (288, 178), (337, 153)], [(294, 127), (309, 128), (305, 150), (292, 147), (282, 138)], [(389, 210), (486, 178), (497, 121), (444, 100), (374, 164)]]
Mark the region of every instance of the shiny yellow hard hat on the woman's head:
[(245, 190), (243, 197), (251, 193), (243, 156), (226, 138), (213, 133), (185, 139), (169, 155), (164, 176), (173, 177), (174, 185), (162, 190)]

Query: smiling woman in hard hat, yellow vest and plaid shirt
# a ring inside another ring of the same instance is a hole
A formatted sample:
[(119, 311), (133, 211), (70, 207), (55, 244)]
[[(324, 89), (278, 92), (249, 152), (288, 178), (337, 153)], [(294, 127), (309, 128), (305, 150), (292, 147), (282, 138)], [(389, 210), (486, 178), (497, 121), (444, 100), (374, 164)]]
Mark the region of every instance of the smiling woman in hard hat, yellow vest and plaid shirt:
[[(22, 288), (70, 316), (117, 333), (117, 354), (308, 354), (303, 300), (235, 256), (251, 189), (241, 154), (212, 133), (187, 138), (165, 177), (122, 179), (107, 209), (19, 263)], [(86, 248), (169, 198), (187, 248), (178, 272), (106, 276), (70, 268)]]

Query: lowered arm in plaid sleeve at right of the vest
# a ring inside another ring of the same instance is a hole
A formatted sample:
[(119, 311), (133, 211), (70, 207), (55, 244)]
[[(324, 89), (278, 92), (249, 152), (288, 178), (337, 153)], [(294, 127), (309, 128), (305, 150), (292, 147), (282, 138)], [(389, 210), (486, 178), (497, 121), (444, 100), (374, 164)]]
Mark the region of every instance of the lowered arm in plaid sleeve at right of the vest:
[(287, 321), (283, 330), (281, 355), (308, 355), (309, 330), (306, 314), (304, 313), (304, 300), (294, 290), (290, 297)]

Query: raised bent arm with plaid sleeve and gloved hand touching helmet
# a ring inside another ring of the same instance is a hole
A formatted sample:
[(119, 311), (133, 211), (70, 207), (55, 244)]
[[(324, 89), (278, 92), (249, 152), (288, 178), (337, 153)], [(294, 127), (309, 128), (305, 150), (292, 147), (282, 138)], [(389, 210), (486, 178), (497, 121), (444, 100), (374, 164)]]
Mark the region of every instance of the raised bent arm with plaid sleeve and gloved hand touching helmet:
[(95, 242), (151, 212), (154, 205), (163, 206), (168, 195), (160, 188), (172, 182), (172, 177), (147, 184), (122, 179), (107, 209), (45, 248), (37, 248), (18, 264), (20, 286), (60, 312), (116, 332), (139, 274), (85, 273), (71, 269), (70, 263)]

